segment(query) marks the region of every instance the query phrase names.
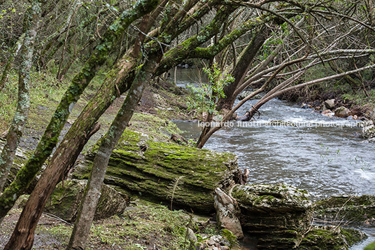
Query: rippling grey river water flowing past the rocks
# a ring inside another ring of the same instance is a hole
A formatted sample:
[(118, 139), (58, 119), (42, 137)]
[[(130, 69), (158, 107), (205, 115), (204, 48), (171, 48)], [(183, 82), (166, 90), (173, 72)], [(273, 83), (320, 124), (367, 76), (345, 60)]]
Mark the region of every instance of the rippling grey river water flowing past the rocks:
[[(177, 85), (197, 85), (196, 72), (178, 69)], [(239, 115), (255, 102), (245, 104)], [(357, 121), (330, 118), (279, 99), (264, 104), (255, 118), (247, 123), (227, 124), (204, 148), (235, 153), (239, 167), (250, 169), (248, 183), (287, 183), (308, 190), (311, 200), (340, 194), (375, 195), (375, 144), (358, 138), (361, 128)], [(297, 127), (269, 125), (273, 120), (292, 122)], [(199, 136), (199, 123), (175, 123), (185, 131), (185, 137)], [(375, 240), (374, 228), (358, 229), (370, 237), (351, 249), (363, 249)]]

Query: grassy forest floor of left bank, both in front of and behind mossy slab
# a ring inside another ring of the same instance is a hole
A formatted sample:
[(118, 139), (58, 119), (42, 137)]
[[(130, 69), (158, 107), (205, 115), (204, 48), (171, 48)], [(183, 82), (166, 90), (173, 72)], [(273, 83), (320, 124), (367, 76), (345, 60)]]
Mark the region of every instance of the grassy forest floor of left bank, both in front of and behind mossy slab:
[[(33, 74), (34, 83), (31, 87), (31, 110), (25, 127), (20, 147), (30, 154), (36, 148), (43, 135), (45, 127), (69, 85), (69, 78), (58, 83), (50, 74)], [(104, 76), (99, 74), (90, 84), (74, 107), (67, 121), (60, 139), (69, 130), (71, 124), (78, 117), (80, 111), (94, 96), (94, 90)], [(173, 84), (160, 81), (152, 83), (145, 90), (139, 109), (130, 122), (132, 130), (152, 134), (153, 138), (168, 140), (171, 134), (158, 131), (158, 123), (169, 123), (171, 119), (192, 119), (187, 111), (185, 90)], [(84, 152), (104, 135), (111, 125), (113, 118), (120, 109), (125, 95), (113, 102), (99, 119), (101, 129), (87, 143)], [(11, 75), (6, 88), (0, 92), (0, 134), (5, 136), (8, 125), (13, 118), (17, 101), (17, 76)], [(152, 115), (152, 116), (151, 116)], [(180, 132), (174, 123), (170, 123), (170, 132)], [(15, 206), (0, 225), (0, 248), (5, 246), (13, 232), (21, 207)], [(124, 214), (95, 221), (92, 225), (87, 249), (187, 249), (185, 239), (187, 224), (190, 228), (203, 235), (220, 234), (215, 224), (208, 224), (208, 218), (203, 218), (206, 224), (202, 227), (202, 218), (194, 216), (194, 221), (185, 211), (169, 211), (167, 207), (143, 200), (135, 200), (129, 204)], [(34, 241), (34, 249), (65, 249), (69, 242), (73, 225), (43, 214)]]

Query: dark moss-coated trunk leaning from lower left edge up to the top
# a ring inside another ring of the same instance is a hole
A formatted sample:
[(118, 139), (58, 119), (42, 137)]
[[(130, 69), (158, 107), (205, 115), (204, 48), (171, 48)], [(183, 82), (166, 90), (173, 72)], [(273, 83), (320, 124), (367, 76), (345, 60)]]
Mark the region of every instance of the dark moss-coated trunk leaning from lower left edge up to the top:
[[(17, 197), (24, 193), (24, 190), (27, 189), (29, 183), (31, 183), (45, 160), (52, 153), (53, 148), (55, 148), (57, 144), (59, 134), (74, 104), (78, 101), (83, 90), (85, 90), (95, 76), (98, 67), (106, 62), (108, 53), (121, 37), (122, 32), (124, 32), (134, 20), (152, 11), (156, 4), (157, 0), (139, 0), (134, 5), (134, 8), (122, 13), (121, 17), (108, 28), (101, 44), (95, 48), (92, 56), (87, 60), (80, 73), (73, 78), (71, 85), (68, 90), (66, 90), (59, 106), (57, 106), (55, 114), (50, 120), (50, 124), (45, 129), (43, 137), (36, 147), (36, 151), (27, 164), (18, 172), (16, 179), (6, 188), (3, 195), (0, 196), (0, 218), (6, 216), (8, 211), (13, 207)], [(24, 235), (28, 235), (28, 233), (24, 232)], [(26, 245), (29, 246), (30, 243), (32, 245), (32, 242), (28, 242)], [(8, 249), (13, 249), (13, 244), (8, 244), (7, 247)], [(17, 247), (15, 249), (17, 249)]]

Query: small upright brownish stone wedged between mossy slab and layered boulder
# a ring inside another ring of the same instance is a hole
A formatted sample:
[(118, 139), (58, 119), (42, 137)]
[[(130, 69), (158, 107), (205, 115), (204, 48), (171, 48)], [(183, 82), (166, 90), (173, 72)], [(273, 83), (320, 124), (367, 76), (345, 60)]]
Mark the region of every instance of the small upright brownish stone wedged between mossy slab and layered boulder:
[(239, 207), (232, 197), (223, 192), (220, 188), (215, 189), (214, 206), (218, 225), (231, 231), (238, 239), (243, 238), (243, 232), (239, 218)]

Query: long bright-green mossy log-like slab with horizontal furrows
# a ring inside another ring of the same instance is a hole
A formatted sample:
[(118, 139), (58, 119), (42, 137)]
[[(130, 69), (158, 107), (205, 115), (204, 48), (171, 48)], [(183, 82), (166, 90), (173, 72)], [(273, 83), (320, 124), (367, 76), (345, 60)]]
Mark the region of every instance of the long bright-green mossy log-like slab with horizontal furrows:
[[(89, 176), (97, 145), (73, 173)], [(214, 211), (213, 190), (231, 186), (239, 174), (236, 155), (156, 142), (125, 130), (111, 155), (104, 183), (120, 193), (172, 204), (200, 214)]]

